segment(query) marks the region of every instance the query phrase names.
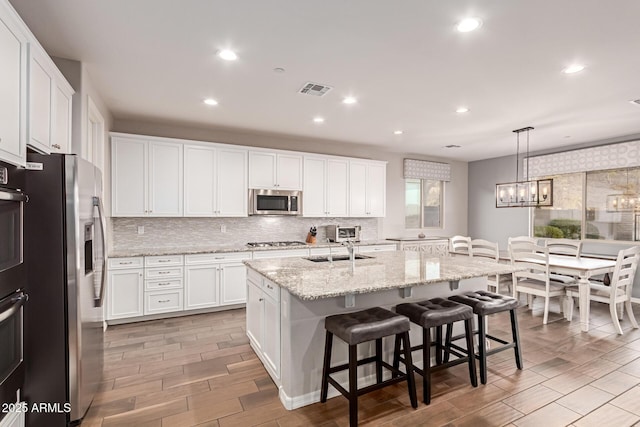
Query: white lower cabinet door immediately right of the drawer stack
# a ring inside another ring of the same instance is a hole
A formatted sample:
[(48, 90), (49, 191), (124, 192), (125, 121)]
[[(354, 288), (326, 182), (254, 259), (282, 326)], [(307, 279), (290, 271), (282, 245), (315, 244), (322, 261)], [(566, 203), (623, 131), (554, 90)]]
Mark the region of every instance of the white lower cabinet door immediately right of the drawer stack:
[(218, 264), (187, 265), (184, 278), (184, 309), (216, 307), (218, 298)]

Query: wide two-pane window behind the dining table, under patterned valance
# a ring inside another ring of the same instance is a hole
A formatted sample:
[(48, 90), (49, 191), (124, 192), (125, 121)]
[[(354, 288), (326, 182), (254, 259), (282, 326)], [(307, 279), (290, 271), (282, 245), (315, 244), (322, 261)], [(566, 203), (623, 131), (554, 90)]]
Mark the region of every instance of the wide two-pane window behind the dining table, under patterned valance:
[(534, 236), (640, 241), (640, 168), (551, 178), (553, 207), (533, 209)]

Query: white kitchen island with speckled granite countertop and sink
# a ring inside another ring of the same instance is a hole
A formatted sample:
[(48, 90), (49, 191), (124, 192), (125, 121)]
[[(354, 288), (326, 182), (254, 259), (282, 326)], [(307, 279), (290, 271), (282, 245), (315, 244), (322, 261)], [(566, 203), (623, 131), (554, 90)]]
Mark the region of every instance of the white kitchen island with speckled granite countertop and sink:
[[(513, 272), (510, 265), (412, 251), (376, 253), (354, 262), (310, 257), (244, 263), (247, 336), (287, 409), (320, 401), (326, 316), (486, 289), (487, 276)], [(419, 343), (420, 337), (419, 327), (412, 325), (411, 339)], [(387, 358), (391, 341), (385, 342)], [(372, 354), (373, 343), (361, 344), (358, 352)], [(332, 364), (346, 360), (347, 345), (336, 340)], [(372, 367), (359, 372), (360, 386), (373, 383)], [(337, 377), (346, 384), (343, 374)], [(337, 394), (329, 389), (330, 396)]]

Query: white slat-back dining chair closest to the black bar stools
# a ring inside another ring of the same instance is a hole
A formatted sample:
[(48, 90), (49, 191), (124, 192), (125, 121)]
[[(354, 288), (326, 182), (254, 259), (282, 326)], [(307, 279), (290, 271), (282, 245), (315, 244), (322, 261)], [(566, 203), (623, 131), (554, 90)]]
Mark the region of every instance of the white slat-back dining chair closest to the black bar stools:
[(529, 308), (532, 307), (533, 297), (544, 298), (544, 315), (542, 324), (549, 319), (549, 300), (560, 297), (560, 310), (566, 297), (564, 285), (549, 279), (549, 249), (544, 246), (527, 242), (511, 242), (509, 256), (514, 267), (524, 270), (513, 273), (513, 296), (518, 299), (520, 293), (528, 295)]

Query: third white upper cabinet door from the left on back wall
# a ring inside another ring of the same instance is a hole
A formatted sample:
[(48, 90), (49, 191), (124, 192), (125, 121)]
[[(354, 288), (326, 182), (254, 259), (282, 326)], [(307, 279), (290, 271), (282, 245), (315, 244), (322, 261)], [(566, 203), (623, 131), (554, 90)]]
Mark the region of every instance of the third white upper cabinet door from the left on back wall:
[(215, 166), (215, 148), (184, 146), (184, 216), (216, 215)]

